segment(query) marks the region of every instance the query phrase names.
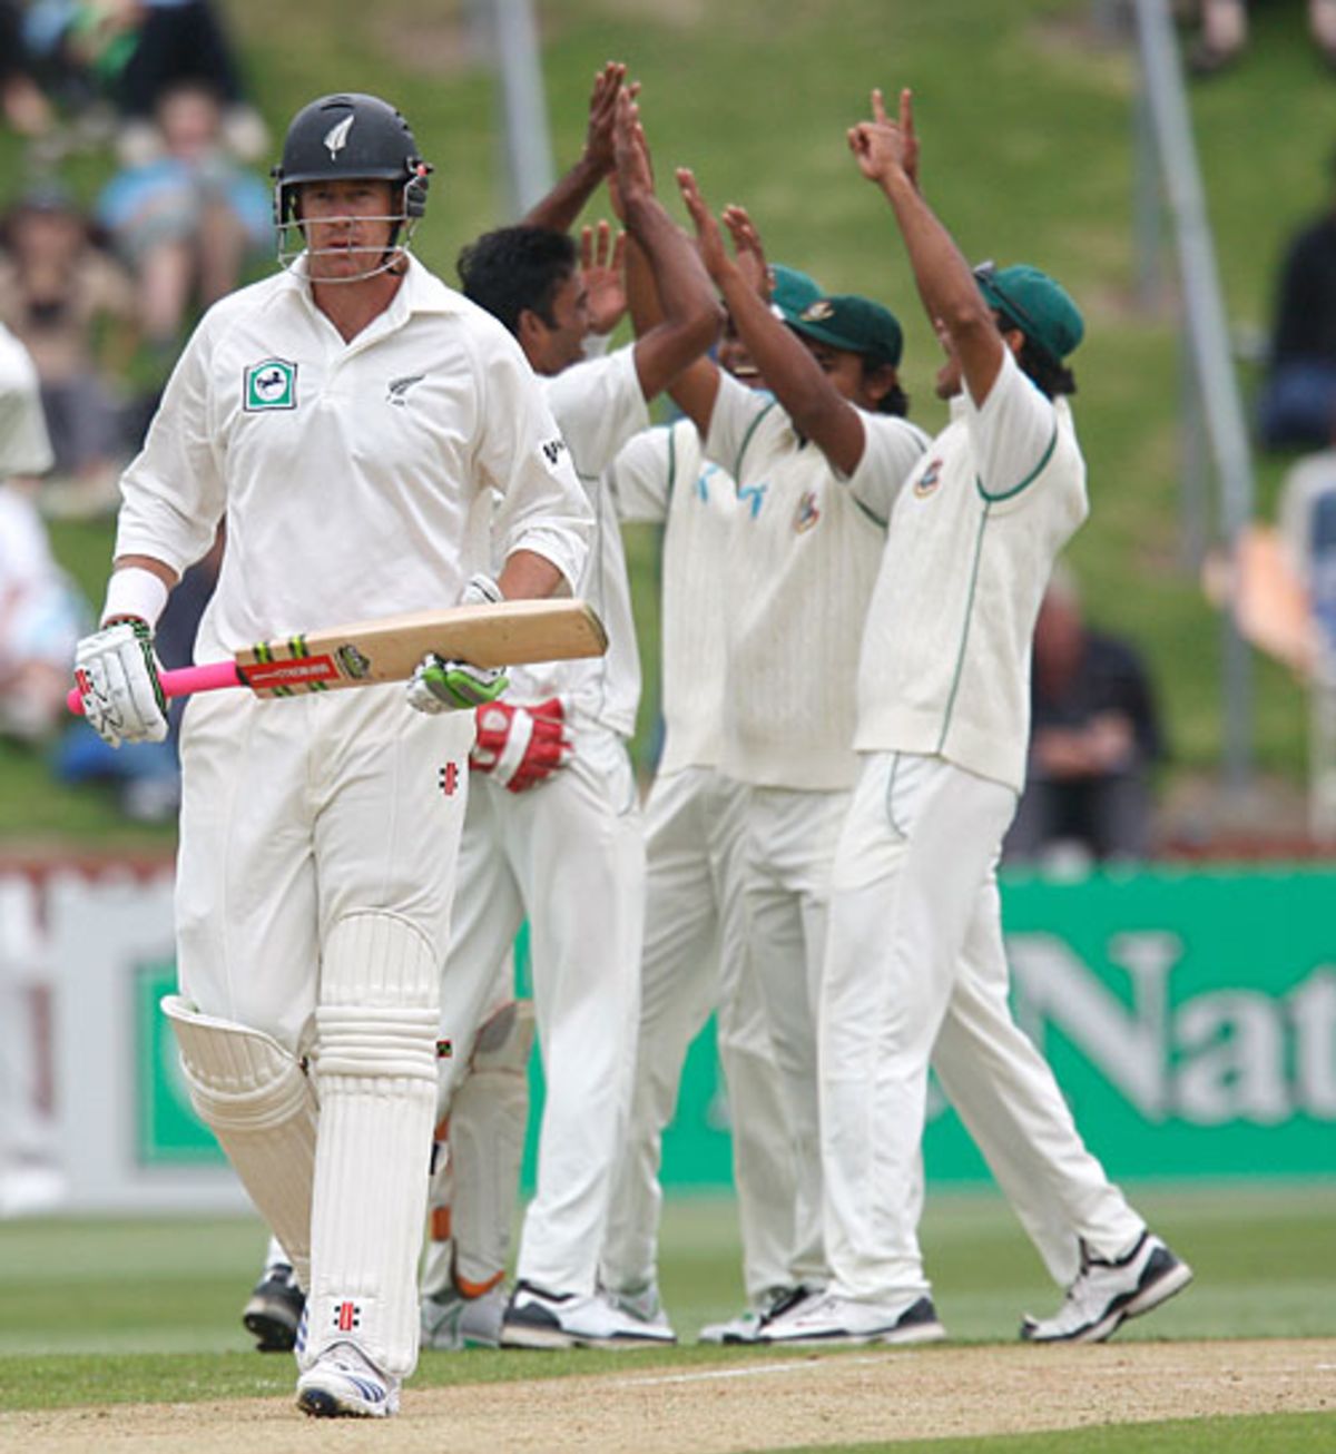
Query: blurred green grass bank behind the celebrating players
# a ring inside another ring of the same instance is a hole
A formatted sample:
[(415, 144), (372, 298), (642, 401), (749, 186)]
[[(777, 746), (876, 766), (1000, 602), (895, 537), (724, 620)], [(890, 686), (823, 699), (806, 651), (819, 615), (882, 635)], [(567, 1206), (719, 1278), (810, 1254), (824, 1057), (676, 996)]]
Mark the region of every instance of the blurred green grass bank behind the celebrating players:
[[(1172, 301), (1156, 316), (1135, 305), (1135, 64), (1128, 49), (1100, 42), (1089, 0), (544, 0), (538, 9), (558, 166), (579, 150), (596, 67), (624, 57), (644, 83), (660, 176), (673, 164), (695, 166), (711, 202), (752, 208), (772, 256), (810, 269), (833, 291), (864, 291), (896, 307), (916, 417), (936, 426), (936, 346), (885, 204), (856, 177), (843, 142), (871, 86), (913, 84), (925, 190), (967, 253), (1048, 266), (1087, 314), (1077, 411), (1095, 512), (1073, 563), (1090, 614), (1150, 657), (1175, 755), (1166, 791), (1214, 778), (1223, 740), (1220, 631), (1183, 563), (1179, 323)], [(382, 90), (403, 106), (438, 169), (419, 250), (446, 276), (459, 246), (507, 214), (493, 83), (468, 42), (468, 10), (426, 0), (228, 7), (275, 135), (301, 102), (340, 86)], [(1336, 135), (1336, 87), (1307, 41), (1298, 0), (1257, 7), (1246, 63), (1194, 87), (1192, 108), (1230, 323), (1255, 332), (1268, 320), (1284, 240), (1326, 204)], [(13, 138), (0, 137), (0, 164), (17, 174), (16, 163)], [(108, 166), (77, 158), (71, 179), (90, 193)], [(1244, 384), (1255, 384), (1247, 371)], [(1263, 513), (1285, 462), (1259, 462)], [(60, 526), (55, 544), (100, 596), (109, 531)], [(653, 595), (651, 544), (632, 555), (644, 603)], [(643, 638), (653, 682), (648, 621)], [(651, 702), (653, 689), (641, 714), (643, 755)], [(1281, 669), (1259, 666), (1257, 765), (1291, 784), (1304, 771), (1301, 705)], [(0, 760), (0, 801), (7, 804), (0, 835), (9, 839), (35, 829), (87, 838), (118, 827), (109, 800), (92, 794), (80, 813), (52, 798), (31, 763)]]

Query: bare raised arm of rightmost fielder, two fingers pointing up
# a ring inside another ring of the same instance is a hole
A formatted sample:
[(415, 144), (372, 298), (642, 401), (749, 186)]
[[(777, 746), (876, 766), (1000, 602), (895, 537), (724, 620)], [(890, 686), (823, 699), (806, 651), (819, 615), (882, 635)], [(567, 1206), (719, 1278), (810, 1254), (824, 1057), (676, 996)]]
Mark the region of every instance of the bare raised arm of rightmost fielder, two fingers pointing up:
[(927, 317), (949, 339), (970, 397), (983, 404), (997, 381), (1006, 343), (964, 254), (919, 192), (912, 93), (900, 93), (900, 116), (891, 121), (881, 92), (874, 90), (872, 119), (849, 129), (849, 148), (862, 174), (891, 204)]

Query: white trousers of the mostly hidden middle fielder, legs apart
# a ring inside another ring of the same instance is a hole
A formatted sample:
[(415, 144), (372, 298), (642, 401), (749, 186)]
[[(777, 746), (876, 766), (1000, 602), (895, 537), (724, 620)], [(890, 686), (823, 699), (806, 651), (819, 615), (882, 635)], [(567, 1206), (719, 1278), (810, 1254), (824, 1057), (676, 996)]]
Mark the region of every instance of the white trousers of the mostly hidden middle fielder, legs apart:
[[(640, 1043), (627, 1144), (618, 1162), (602, 1281), (656, 1282), (663, 1131), (682, 1064), (711, 1009), (733, 1127), (733, 1179), (749, 1298), (794, 1281), (794, 1170), (779, 1077), (743, 926), (741, 848), (749, 790), (714, 768), (657, 778), (645, 803), (645, 933)], [(725, 909), (725, 904), (728, 906)]]

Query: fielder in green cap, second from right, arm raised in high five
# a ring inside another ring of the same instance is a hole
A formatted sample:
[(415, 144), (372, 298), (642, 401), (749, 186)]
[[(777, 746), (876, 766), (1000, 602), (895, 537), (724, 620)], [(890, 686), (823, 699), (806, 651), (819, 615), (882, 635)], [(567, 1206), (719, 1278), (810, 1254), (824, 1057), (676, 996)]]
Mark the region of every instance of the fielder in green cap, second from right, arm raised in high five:
[(858, 643), (891, 503), (927, 436), (903, 417), (894, 316), (845, 295), (781, 323), (754, 286), (763, 257), (746, 214), (724, 214), (734, 262), (695, 179), (680, 172), (679, 182), (705, 266), (775, 394), (709, 364), (673, 390), (707, 457), (739, 486), (721, 768), (747, 787), (741, 932), (784, 1085), (797, 1264), (810, 1290), (826, 1281), (816, 1016), (830, 864), (858, 774)]

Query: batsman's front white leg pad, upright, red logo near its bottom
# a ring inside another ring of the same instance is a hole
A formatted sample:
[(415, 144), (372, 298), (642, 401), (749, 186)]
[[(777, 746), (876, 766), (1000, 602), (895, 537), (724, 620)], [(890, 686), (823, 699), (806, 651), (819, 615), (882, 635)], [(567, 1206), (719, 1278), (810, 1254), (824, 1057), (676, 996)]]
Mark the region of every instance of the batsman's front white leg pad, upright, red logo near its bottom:
[(302, 1368), (337, 1342), (398, 1378), (417, 1362), (439, 976), (436, 947), (397, 915), (347, 915), (327, 935)]

